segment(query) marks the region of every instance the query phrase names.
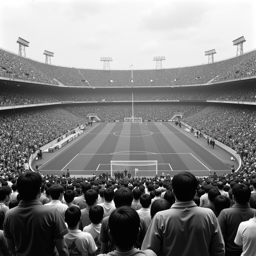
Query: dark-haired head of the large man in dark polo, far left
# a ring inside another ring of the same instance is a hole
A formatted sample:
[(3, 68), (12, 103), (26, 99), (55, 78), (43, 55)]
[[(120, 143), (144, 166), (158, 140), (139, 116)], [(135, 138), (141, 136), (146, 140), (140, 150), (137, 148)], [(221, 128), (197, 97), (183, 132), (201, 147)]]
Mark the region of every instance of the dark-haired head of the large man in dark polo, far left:
[(25, 172), (17, 179), (17, 190), (22, 200), (34, 200), (39, 194), (42, 177), (36, 172)]

